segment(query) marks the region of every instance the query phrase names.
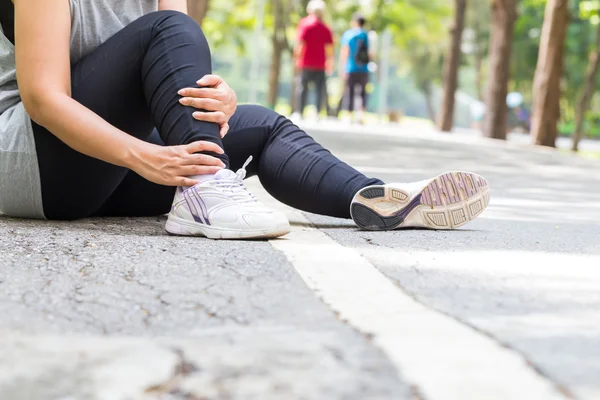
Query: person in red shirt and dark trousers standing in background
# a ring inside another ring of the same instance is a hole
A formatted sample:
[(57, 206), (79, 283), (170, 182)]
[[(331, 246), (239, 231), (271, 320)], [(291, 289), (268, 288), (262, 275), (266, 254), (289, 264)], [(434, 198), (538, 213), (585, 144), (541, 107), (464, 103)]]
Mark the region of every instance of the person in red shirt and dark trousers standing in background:
[(311, 83), (314, 84), (317, 94), (317, 112), (321, 110), (327, 93), (327, 74), (333, 72), (333, 34), (323, 22), (325, 2), (311, 0), (307, 11), (308, 17), (298, 24), (294, 52), (299, 84), (296, 85), (297, 101), (293, 117), (298, 119), (304, 113)]

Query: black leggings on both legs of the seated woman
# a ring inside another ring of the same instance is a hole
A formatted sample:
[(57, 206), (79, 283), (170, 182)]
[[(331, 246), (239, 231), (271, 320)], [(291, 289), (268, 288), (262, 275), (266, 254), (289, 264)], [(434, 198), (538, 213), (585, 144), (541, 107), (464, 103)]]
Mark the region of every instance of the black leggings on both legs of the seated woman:
[[(248, 176), (258, 175), (271, 195), (301, 210), (347, 218), (353, 195), (381, 183), (260, 106), (240, 106), (221, 140), (217, 125), (193, 119), (194, 110), (178, 102), (179, 89), (195, 86), (210, 73), (210, 49), (198, 25), (182, 13), (160, 11), (133, 22), (74, 65), (72, 95), (115, 127), (145, 141), (217, 143), (225, 150), (222, 160), (233, 170), (253, 155)], [(175, 188), (78, 153), (41, 126), (34, 126), (34, 136), (47, 218), (169, 212)]]

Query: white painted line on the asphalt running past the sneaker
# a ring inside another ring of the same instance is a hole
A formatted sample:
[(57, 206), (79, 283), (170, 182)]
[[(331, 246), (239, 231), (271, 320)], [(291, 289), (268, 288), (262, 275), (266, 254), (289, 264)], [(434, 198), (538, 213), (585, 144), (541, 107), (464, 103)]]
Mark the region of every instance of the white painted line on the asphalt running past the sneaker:
[[(252, 191), (263, 201), (264, 191)], [(286, 209), (294, 226), (271, 244), (282, 251), (316, 295), (341, 320), (373, 335), (403, 379), (428, 400), (566, 399), (517, 353), (404, 294), (370, 262), (324, 233), (306, 227)]]

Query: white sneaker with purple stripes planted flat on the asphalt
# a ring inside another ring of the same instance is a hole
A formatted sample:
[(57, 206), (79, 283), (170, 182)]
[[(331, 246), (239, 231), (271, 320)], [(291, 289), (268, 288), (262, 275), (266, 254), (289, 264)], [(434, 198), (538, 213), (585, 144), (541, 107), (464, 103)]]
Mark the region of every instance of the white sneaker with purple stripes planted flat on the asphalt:
[(210, 239), (266, 239), (290, 232), (286, 216), (263, 205), (244, 186), (246, 166), (228, 169), (191, 188), (178, 188), (165, 229)]

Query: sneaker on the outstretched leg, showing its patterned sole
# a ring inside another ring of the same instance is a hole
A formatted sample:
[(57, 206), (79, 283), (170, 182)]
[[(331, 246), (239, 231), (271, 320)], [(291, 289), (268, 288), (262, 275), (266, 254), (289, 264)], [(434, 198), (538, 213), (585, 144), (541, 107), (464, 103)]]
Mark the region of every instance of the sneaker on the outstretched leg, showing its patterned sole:
[(455, 229), (477, 218), (490, 202), (488, 182), (468, 172), (433, 178), (419, 193), (375, 185), (357, 193), (350, 213), (362, 229)]

